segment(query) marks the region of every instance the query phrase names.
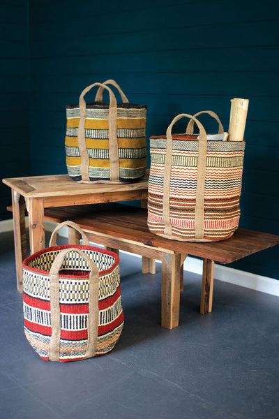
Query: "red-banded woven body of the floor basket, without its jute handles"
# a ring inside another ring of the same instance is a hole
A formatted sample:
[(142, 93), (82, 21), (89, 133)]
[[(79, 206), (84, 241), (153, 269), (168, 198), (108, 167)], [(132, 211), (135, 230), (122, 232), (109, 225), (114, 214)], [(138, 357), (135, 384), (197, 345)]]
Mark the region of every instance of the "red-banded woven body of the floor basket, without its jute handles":
[[(112, 351), (123, 329), (119, 257), (88, 246), (50, 247), (23, 262), (24, 333), (44, 360), (50, 359), (52, 323), (50, 268), (62, 249), (82, 249), (99, 270), (98, 339), (96, 355)], [(89, 265), (72, 250), (59, 272), (61, 337), (59, 361), (82, 360), (88, 344)]]

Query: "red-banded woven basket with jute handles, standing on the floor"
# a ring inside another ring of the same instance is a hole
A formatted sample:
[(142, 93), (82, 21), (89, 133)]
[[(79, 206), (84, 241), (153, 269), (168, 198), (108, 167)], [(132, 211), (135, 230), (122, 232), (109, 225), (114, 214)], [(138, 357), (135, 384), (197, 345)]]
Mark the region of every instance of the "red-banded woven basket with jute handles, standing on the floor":
[[(83, 245), (56, 246), (59, 228)], [(75, 223), (59, 224), (50, 247), (23, 262), (24, 333), (44, 360), (75, 361), (112, 351), (123, 328), (119, 256), (89, 246)]]

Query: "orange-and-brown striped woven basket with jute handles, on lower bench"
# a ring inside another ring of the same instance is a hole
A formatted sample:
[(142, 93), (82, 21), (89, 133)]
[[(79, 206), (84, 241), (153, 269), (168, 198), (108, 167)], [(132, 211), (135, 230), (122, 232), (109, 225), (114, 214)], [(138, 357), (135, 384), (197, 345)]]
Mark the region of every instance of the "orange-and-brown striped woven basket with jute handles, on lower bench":
[[(217, 119), (218, 134), (206, 135), (195, 117), (204, 112)], [(239, 226), (245, 142), (227, 141), (218, 116), (204, 112), (178, 115), (167, 135), (150, 139), (148, 226), (169, 239), (224, 240)], [(172, 135), (183, 117), (190, 118), (186, 134)], [(199, 135), (193, 134), (194, 122)]]

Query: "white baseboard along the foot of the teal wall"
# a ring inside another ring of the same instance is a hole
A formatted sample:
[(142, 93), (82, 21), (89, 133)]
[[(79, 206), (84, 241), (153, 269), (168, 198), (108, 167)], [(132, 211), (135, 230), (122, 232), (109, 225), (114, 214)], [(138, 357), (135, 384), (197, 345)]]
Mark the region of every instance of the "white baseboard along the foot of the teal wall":
[[(28, 226), (28, 217), (25, 218), (26, 225)], [(56, 225), (57, 223), (54, 221), (45, 220), (46, 231), (53, 231)], [(12, 219), (0, 221), (0, 233), (12, 230)], [(68, 237), (68, 228), (61, 228), (61, 230), (59, 230), (59, 235), (61, 237)], [(123, 253), (128, 252), (123, 251)], [(133, 256), (140, 257), (139, 255), (135, 255), (135, 253), (133, 253)], [(188, 272), (202, 275), (202, 260), (188, 256), (184, 262), (183, 269)], [(214, 267), (214, 279), (279, 297), (279, 281), (277, 279), (251, 274), (250, 272), (237, 270), (232, 267), (218, 265), (218, 263), (216, 263)]]

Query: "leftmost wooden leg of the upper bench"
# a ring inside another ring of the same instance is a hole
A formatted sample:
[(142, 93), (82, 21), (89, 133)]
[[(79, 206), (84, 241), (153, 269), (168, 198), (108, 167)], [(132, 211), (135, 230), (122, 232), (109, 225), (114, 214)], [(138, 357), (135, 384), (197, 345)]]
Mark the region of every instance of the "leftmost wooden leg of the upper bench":
[(12, 189), (13, 234), (15, 240), (15, 267), (17, 270), (17, 291), (22, 293), (22, 260), (27, 258), (27, 234), (25, 228), (24, 197)]

